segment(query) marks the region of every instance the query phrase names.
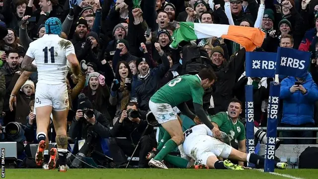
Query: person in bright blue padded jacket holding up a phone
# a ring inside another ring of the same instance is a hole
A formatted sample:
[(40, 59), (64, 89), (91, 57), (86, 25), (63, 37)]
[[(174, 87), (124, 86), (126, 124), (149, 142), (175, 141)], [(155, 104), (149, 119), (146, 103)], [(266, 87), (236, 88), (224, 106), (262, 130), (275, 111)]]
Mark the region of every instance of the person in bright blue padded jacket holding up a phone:
[[(283, 99), (283, 127), (315, 127), (314, 104), (318, 100), (318, 87), (310, 73), (303, 78), (285, 78), (281, 82), (280, 99)], [(313, 131), (283, 131), (283, 137), (313, 137)], [(313, 140), (284, 139), (284, 144), (313, 144)]]

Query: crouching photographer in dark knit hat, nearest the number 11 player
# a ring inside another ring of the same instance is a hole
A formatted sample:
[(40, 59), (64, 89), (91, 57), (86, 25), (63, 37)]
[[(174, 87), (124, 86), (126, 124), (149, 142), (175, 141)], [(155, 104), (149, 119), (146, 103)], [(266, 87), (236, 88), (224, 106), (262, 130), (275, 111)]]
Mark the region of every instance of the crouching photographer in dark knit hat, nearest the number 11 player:
[[(99, 161), (100, 156), (97, 153), (103, 153), (100, 138), (110, 137), (109, 122), (106, 117), (93, 109), (93, 105), (84, 94), (79, 94), (78, 110), (70, 127), (70, 137), (77, 141), (83, 142), (83, 146), (78, 149), (79, 145), (75, 145), (75, 149), (79, 150), (76, 155), (78, 159), (82, 157), (91, 157), (96, 163), (102, 165), (103, 161)], [(80, 142), (79, 142), (80, 143)], [(72, 159), (70, 159), (72, 161)], [(79, 160), (73, 160), (72, 166), (81, 168)]]

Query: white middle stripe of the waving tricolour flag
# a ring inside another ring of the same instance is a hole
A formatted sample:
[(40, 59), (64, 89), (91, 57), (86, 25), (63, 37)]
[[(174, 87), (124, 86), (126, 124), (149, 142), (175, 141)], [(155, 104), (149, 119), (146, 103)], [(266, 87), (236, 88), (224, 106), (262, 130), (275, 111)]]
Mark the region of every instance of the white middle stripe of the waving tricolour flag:
[(230, 25), (224, 24), (207, 24), (207, 23), (193, 23), (195, 35), (198, 39), (221, 37), (227, 35)]

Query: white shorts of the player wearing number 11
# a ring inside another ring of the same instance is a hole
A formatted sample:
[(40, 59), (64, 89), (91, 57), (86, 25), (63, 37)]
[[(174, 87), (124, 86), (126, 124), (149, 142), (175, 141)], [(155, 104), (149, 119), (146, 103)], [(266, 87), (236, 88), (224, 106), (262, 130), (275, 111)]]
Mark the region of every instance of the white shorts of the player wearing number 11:
[(67, 84), (36, 84), (34, 108), (50, 105), (54, 111), (63, 111), (69, 107)]

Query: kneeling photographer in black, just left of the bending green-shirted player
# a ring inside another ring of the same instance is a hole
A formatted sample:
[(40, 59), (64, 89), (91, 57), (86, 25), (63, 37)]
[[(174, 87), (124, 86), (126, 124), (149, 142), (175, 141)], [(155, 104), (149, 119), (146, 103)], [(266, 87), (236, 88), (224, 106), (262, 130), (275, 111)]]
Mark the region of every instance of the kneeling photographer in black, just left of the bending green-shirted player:
[[(118, 168), (126, 167), (127, 156), (131, 156), (140, 140), (139, 147), (135, 154), (139, 153), (139, 168), (146, 168), (146, 156), (153, 148), (157, 146), (154, 128), (148, 127), (145, 135), (142, 136), (148, 123), (141, 119), (141, 115), (137, 111), (137, 104), (129, 102), (126, 110), (122, 111), (121, 117), (118, 118), (111, 130), (112, 138), (109, 140), (109, 150)], [(117, 137), (126, 137), (119, 139)]]

